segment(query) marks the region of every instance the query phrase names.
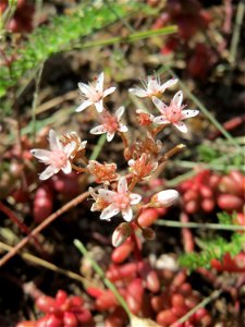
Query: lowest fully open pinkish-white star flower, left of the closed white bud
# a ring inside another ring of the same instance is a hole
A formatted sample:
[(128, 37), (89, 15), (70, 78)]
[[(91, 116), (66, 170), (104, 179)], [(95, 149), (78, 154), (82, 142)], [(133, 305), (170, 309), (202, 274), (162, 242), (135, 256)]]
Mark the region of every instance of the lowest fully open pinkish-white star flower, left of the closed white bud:
[(118, 192), (99, 189), (97, 196), (109, 203), (109, 205), (100, 215), (100, 219), (106, 220), (110, 220), (111, 217), (121, 211), (124, 220), (131, 221), (133, 219), (132, 205), (138, 204), (142, 199), (139, 194), (128, 192), (125, 177), (120, 178), (118, 183)]

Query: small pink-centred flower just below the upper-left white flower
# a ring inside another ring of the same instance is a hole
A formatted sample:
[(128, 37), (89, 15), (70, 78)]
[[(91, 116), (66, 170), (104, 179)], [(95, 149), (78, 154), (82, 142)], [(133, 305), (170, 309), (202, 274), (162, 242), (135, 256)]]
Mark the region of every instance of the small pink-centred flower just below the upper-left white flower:
[(105, 110), (101, 113), (102, 124), (90, 130), (91, 134), (103, 134), (107, 133), (107, 141), (111, 142), (114, 137), (115, 132), (127, 132), (127, 126), (121, 123), (121, 117), (124, 112), (124, 107), (120, 107), (115, 114), (111, 114)]

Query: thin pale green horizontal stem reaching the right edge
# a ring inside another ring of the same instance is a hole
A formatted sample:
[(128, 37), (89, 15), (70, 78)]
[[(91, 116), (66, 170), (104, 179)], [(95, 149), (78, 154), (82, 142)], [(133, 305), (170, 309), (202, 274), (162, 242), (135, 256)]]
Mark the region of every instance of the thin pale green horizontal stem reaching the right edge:
[(181, 221), (172, 221), (172, 220), (157, 220), (155, 222), (159, 226), (164, 227), (174, 227), (174, 228), (200, 228), (200, 229), (216, 229), (216, 230), (229, 230), (229, 231), (245, 231), (245, 227), (243, 226), (234, 226), (234, 225), (221, 225), (221, 223), (201, 223), (201, 222), (181, 222)]

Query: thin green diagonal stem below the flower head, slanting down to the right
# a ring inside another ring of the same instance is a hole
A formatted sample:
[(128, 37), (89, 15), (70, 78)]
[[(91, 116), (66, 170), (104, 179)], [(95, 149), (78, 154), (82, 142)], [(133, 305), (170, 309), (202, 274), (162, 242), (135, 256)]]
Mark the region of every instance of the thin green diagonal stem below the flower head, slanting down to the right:
[(125, 302), (125, 300), (120, 295), (119, 291), (114, 287), (114, 284), (106, 278), (103, 270), (99, 267), (99, 265), (93, 259), (93, 257), (89, 255), (88, 251), (84, 246), (84, 244), (79, 240), (74, 240), (74, 245), (79, 250), (79, 252), (86, 256), (90, 263), (95, 271), (99, 275), (99, 277), (103, 280), (105, 284), (111, 290), (111, 292), (114, 294), (119, 303), (122, 305), (122, 307), (125, 310), (128, 317), (132, 317), (132, 313)]

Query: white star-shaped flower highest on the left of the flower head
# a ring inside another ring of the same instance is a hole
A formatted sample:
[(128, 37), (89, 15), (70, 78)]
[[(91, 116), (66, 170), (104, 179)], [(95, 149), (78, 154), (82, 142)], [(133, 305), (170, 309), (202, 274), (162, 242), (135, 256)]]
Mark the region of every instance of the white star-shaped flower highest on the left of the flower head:
[(115, 87), (109, 87), (103, 90), (103, 73), (100, 73), (96, 85), (78, 83), (78, 87), (85, 97), (85, 101), (76, 108), (76, 112), (83, 111), (87, 107), (95, 105), (98, 112), (103, 111), (103, 98), (115, 90)]

